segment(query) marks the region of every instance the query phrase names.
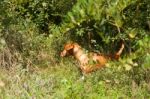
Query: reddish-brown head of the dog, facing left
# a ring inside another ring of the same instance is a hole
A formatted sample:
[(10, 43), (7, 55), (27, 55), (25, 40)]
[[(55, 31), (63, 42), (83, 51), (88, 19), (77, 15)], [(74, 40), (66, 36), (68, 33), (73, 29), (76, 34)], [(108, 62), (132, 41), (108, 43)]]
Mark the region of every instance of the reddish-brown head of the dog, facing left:
[(64, 57), (64, 56), (67, 56), (67, 55), (72, 55), (73, 54), (73, 48), (74, 48), (73, 43), (65, 44), (64, 50), (61, 52), (60, 56)]

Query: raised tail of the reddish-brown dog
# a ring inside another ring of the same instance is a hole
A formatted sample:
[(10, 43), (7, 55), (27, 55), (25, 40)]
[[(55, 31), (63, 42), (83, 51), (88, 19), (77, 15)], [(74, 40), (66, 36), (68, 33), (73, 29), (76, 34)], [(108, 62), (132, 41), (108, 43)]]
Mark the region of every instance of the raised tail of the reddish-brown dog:
[(121, 55), (122, 52), (123, 52), (124, 47), (125, 47), (124, 41), (122, 40), (122, 41), (121, 41), (121, 47), (120, 47), (119, 51), (116, 52), (114, 55), (110, 55), (110, 58), (111, 58), (111, 59), (118, 60), (119, 57), (120, 57), (120, 55)]

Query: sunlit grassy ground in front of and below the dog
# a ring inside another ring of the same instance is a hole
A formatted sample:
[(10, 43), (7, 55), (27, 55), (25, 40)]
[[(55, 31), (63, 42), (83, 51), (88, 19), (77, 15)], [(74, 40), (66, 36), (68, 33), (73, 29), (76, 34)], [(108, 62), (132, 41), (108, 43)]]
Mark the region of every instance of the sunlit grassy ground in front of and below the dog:
[[(118, 63), (114, 63), (117, 65)], [(21, 66), (0, 72), (1, 99), (148, 99), (148, 84), (137, 86), (128, 72), (106, 67), (83, 75), (73, 60), (46, 69)]]

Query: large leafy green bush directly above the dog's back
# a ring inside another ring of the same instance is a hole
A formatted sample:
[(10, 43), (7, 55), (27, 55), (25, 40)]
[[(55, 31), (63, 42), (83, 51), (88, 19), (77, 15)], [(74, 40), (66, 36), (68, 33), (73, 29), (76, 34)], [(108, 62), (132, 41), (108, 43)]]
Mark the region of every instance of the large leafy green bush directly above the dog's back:
[(107, 45), (107, 48), (111, 46), (111, 49), (117, 47), (115, 42), (123, 39), (129, 46), (127, 52), (131, 52), (134, 50), (132, 46), (149, 30), (148, 8), (147, 1), (79, 0), (65, 17), (60, 31), (74, 31), (70, 35), (81, 36), (86, 41), (90, 33), (91, 38), (88, 39), (96, 40), (96, 44)]

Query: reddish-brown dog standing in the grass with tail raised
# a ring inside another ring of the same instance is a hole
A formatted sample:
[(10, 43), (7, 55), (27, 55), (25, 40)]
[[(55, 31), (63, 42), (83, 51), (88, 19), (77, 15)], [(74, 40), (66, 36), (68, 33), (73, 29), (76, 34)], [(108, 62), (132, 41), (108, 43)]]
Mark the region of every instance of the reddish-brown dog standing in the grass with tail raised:
[(67, 43), (61, 52), (61, 57), (73, 55), (79, 61), (82, 72), (89, 73), (105, 66), (109, 59), (118, 60), (123, 49), (124, 43), (122, 43), (120, 50), (116, 54), (101, 55), (93, 52), (86, 53), (77, 43)]

